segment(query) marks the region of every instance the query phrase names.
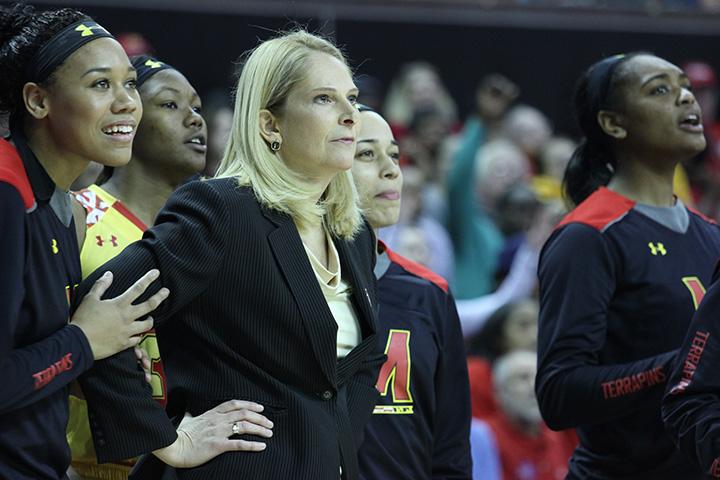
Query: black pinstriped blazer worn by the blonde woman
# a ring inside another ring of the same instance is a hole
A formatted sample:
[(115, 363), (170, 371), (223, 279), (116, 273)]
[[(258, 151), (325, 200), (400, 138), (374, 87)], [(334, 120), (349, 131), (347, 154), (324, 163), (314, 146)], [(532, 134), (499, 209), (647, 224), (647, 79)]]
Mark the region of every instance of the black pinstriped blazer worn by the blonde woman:
[[(374, 242), (367, 224), (354, 241), (335, 240), (362, 331), (362, 342), (340, 361), (337, 324), (295, 224), (233, 179), (181, 187), (141, 241), (83, 281), (77, 302), (107, 270), (114, 279), (106, 297), (160, 270), (144, 297), (170, 289), (152, 316), (171, 416), (243, 399), (264, 405), (274, 423), (264, 451), (226, 453), (179, 469), (179, 478), (337, 480), (341, 465), (344, 478), (357, 478), (356, 450), (384, 358), (375, 336)], [(131, 350), (96, 362), (80, 383), (99, 461), (175, 440)]]

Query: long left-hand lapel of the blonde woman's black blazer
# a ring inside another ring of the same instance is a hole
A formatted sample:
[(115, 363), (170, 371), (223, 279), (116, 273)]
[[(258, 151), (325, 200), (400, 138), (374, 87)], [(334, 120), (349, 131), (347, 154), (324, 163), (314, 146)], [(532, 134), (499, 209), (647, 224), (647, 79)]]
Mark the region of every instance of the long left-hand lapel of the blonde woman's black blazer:
[(295, 298), (315, 356), (330, 384), (336, 385), (337, 323), (320, 290), (297, 227), (287, 215), (268, 209), (263, 212), (278, 227), (268, 235), (270, 248)]

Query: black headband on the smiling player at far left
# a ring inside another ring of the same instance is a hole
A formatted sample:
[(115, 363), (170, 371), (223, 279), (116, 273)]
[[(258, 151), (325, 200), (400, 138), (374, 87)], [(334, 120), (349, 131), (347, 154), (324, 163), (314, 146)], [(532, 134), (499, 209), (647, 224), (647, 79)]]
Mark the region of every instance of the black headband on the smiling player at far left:
[(88, 42), (105, 37), (113, 38), (107, 30), (89, 18), (65, 27), (33, 55), (25, 70), (25, 80), (42, 82), (75, 50)]

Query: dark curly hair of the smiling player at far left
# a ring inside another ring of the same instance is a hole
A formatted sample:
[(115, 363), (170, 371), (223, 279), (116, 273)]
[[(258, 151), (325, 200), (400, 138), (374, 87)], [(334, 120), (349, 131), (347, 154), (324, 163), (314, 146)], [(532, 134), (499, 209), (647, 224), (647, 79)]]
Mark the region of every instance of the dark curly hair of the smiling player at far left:
[(20, 3), (0, 7), (1, 113), (13, 117), (22, 113), (25, 73), (33, 55), (56, 33), (83, 18), (87, 15), (71, 8), (36, 11)]

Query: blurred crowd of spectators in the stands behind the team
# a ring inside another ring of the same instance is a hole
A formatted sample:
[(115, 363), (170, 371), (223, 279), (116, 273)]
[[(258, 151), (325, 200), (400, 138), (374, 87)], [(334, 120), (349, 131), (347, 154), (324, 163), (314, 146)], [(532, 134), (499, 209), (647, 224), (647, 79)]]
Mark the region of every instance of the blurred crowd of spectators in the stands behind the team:
[[(134, 34), (118, 38), (130, 55), (151, 50)], [(675, 191), (687, 205), (717, 219), (720, 85), (704, 62), (683, 67), (703, 110), (708, 148), (678, 169)], [(536, 270), (543, 243), (567, 211), (561, 185), (578, 139), (556, 132), (542, 111), (523, 103), (522, 85), (502, 73), (479, 79), (472, 113), (464, 119), (458, 111), (465, 109), (429, 63), (403, 65), (389, 85), (362, 74), (356, 83), (360, 102), (391, 124), (402, 155), (400, 222), (381, 230), (380, 237), (445, 277), (457, 300), (470, 373), (474, 478), (565, 478), (577, 437), (543, 423), (534, 391)], [(223, 90), (202, 98), (209, 135), (204, 175), (212, 176), (231, 128), (232, 103)], [(97, 174), (89, 170), (73, 189)]]

